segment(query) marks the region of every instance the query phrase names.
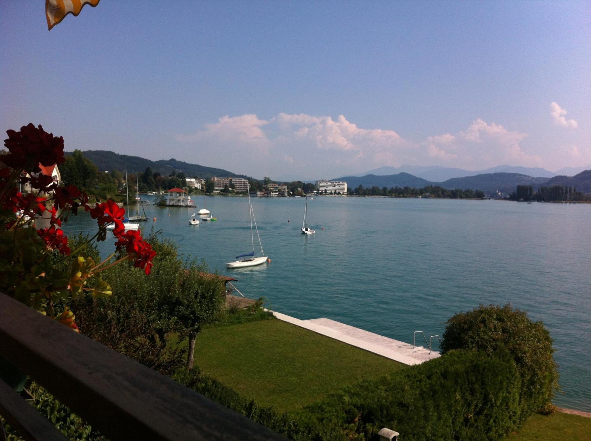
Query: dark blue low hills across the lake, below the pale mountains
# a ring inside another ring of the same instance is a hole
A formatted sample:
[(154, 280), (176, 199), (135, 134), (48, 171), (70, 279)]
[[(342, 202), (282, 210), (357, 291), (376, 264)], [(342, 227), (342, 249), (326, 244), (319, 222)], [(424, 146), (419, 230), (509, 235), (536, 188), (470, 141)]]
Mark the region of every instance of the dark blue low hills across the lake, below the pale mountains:
[[(577, 175), (578, 176), (578, 175)], [(556, 179), (556, 178), (553, 178)], [(535, 187), (545, 184), (547, 177), (531, 177), (519, 173), (485, 173), (476, 176), (466, 176), (448, 179), (443, 182), (431, 182), (408, 173), (391, 174), (389, 176), (376, 176), (367, 174), (366, 176), (345, 176), (336, 180), (346, 181), (347, 186), (356, 188), (360, 184), (363, 187), (415, 187), (440, 186), (444, 189), (472, 189), (483, 190), (484, 192), (494, 192), (500, 190), (503, 193), (515, 191), (518, 185), (533, 185)], [(584, 191), (584, 190), (583, 190)]]

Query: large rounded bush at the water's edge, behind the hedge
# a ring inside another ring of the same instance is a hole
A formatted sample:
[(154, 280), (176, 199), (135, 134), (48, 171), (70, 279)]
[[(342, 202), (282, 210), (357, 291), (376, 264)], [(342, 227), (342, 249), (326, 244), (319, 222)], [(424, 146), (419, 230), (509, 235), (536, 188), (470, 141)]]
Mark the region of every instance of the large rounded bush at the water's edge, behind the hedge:
[(551, 403), (558, 389), (558, 368), (552, 339), (542, 322), (510, 304), (479, 306), (454, 315), (443, 333), (441, 351), (476, 349), (492, 354), (506, 349), (514, 358), (522, 380), (520, 420)]

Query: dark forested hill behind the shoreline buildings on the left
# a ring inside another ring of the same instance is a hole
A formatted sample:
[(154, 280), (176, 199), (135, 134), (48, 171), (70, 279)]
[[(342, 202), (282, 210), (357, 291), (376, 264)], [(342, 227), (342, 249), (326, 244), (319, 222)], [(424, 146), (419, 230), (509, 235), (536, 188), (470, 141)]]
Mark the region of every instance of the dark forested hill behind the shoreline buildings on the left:
[[(176, 159), (151, 161), (139, 156), (120, 155), (109, 150), (85, 150), (82, 152), (86, 158), (95, 164), (99, 170), (127, 170), (128, 173), (143, 173), (147, 167), (163, 176), (168, 176), (171, 171), (182, 171), (187, 177), (198, 176), (207, 179), (213, 176), (222, 177), (248, 177), (242, 174), (232, 173), (222, 168), (205, 167), (199, 164), (190, 164)], [(71, 155), (72, 152), (66, 152)]]

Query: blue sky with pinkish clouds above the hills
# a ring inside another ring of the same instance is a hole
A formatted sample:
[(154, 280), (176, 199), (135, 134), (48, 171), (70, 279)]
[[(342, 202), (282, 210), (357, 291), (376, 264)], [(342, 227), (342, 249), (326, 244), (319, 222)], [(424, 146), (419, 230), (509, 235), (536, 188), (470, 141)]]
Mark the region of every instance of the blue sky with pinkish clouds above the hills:
[(0, 4), (0, 130), (272, 179), (591, 165), (591, 2)]

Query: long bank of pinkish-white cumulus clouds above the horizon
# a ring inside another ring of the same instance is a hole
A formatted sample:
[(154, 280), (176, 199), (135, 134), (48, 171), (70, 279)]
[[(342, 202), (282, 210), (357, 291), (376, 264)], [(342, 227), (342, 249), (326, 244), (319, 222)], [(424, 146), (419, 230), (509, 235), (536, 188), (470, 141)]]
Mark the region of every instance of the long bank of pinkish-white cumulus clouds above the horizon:
[[(361, 128), (344, 115), (280, 113), (222, 116), (177, 140), (194, 145), (202, 163), (252, 176), (334, 178), (379, 166), (441, 164), (480, 168), (502, 163), (538, 165), (522, 150), (527, 134), (476, 119), (456, 134), (405, 140), (392, 129)], [(213, 152), (213, 153), (212, 153)], [(210, 160), (217, 158), (217, 160)]]

